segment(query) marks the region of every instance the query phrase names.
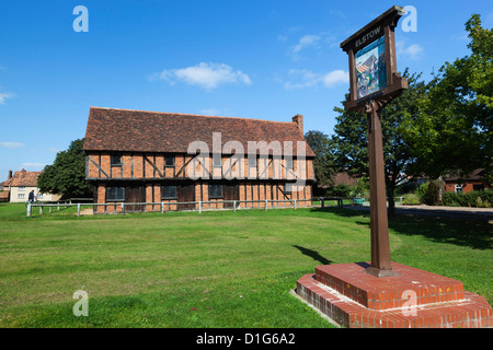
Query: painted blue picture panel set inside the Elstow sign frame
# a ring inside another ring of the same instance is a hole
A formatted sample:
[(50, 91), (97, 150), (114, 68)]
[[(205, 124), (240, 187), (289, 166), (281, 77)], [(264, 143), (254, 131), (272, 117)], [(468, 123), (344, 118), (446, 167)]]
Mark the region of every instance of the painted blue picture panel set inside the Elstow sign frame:
[(387, 88), (386, 44), (383, 36), (355, 55), (357, 97)]

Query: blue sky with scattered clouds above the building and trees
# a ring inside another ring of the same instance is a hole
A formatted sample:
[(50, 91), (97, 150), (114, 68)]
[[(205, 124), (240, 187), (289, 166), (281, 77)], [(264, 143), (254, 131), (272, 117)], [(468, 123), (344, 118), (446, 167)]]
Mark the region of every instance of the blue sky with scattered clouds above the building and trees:
[[(82, 138), (90, 106), (290, 121), (332, 133), (348, 90), (340, 43), (391, 5), (417, 10), (395, 31), (398, 67), (428, 80), (468, 55), (471, 1), (0, 1), (0, 180), (39, 171)], [(77, 5), (89, 32), (74, 32)], [(402, 24), (403, 19), (400, 24)]]

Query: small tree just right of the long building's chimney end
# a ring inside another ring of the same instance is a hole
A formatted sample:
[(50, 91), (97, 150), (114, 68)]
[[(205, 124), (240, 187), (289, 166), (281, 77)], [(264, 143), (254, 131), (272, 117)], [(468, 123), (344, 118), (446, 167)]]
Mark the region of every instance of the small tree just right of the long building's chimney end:
[(334, 164), (331, 154), (331, 139), (322, 131), (311, 130), (305, 133), (305, 140), (316, 154), (313, 168), (317, 182), (322, 186), (332, 185)]

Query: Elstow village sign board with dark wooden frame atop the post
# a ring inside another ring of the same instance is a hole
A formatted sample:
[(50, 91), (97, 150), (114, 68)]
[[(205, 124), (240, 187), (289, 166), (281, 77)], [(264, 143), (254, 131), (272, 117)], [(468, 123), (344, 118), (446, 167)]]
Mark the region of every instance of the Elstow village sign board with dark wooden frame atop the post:
[(404, 13), (403, 8), (394, 5), (341, 44), (349, 58), (345, 109), (363, 112), (370, 100), (385, 104), (408, 89), (395, 63), (394, 28)]

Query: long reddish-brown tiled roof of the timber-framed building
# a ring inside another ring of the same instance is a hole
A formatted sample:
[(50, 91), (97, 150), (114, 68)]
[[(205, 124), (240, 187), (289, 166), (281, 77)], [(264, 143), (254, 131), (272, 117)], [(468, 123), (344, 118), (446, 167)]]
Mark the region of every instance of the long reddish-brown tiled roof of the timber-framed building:
[[(295, 122), (211, 117), (192, 114), (158, 113), (91, 107), (83, 149), (85, 151), (133, 151), (187, 153), (193, 141), (204, 141), (213, 151), (213, 132), (221, 132), (222, 145), (239, 141), (305, 141)], [(306, 144), (307, 156), (314, 156)]]

